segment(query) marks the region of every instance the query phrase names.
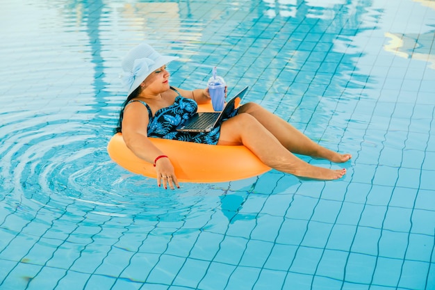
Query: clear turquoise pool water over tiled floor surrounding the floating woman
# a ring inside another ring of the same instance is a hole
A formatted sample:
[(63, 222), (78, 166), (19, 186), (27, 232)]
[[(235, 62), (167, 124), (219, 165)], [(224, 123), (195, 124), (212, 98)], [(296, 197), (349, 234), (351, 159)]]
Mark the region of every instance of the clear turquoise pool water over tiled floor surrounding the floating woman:
[[(434, 1), (1, 7), (0, 289), (435, 289)], [(126, 172), (106, 145), (143, 40), (180, 56), (172, 85), (217, 66), (230, 95), (352, 153), (347, 175), (170, 191)]]

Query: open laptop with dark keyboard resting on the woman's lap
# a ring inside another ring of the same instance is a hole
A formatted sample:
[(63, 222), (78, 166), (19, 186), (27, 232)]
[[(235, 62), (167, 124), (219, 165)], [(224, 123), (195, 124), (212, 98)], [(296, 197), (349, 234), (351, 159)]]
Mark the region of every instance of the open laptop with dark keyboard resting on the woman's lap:
[(179, 124), (177, 131), (179, 132), (209, 132), (213, 130), (216, 124), (227, 117), (236, 106), (240, 103), (245, 95), (248, 87), (240, 90), (225, 104), (222, 112), (199, 112), (192, 115), (192, 118)]

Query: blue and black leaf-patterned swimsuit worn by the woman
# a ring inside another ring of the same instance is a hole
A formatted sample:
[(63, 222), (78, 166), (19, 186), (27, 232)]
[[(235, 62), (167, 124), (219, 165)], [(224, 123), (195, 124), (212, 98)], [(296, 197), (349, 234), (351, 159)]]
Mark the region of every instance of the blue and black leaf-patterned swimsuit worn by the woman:
[[(182, 97), (180, 93), (171, 87), (174, 92), (177, 92), (178, 96), (175, 97), (174, 104), (161, 108), (156, 111), (156, 115), (152, 115), (151, 108), (148, 104), (140, 100), (132, 100), (129, 102), (140, 102), (144, 104), (148, 109), (149, 124), (147, 127), (148, 137), (164, 138), (170, 140), (181, 140), (202, 144), (217, 144), (220, 136), (220, 124), (211, 130), (210, 132), (179, 132), (177, 127), (179, 124), (188, 120), (197, 111), (198, 105), (193, 99)], [(236, 115), (238, 109), (235, 109), (227, 118)]]

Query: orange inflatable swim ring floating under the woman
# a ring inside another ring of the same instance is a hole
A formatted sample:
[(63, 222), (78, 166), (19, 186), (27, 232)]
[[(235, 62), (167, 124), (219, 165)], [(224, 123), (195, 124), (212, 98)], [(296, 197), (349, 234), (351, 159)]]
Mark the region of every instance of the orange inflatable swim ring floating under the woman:
[[(201, 105), (198, 111), (213, 111)], [(149, 138), (174, 166), (179, 182), (230, 182), (261, 175), (271, 168), (262, 163), (247, 147), (207, 145), (179, 140)], [(122, 134), (115, 134), (107, 146), (110, 158), (130, 172), (156, 178), (156, 168), (136, 156), (124, 143)]]

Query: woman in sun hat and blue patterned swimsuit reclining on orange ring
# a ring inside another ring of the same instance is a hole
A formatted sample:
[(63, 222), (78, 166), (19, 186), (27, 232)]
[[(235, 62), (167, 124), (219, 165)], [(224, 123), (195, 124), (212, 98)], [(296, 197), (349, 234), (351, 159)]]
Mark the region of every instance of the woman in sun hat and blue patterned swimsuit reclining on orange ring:
[(217, 145), (245, 145), (266, 165), (298, 177), (331, 180), (346, 170), (312, 166), (297, 158), (304, 154), (336, 163), (348, 161), (350, 154), (338, 154), (314, 143), (293, 126), (255, 103), (233, 111), (209, 133), (182, 133), (175, 128), (197, 110), (197, 104), (210, 102), (208, 89), (182, 90), (169, 84), (166, 64), (177, 59), (162, 56), (147, 44), (131, 49), (122, 61), (124, 86), (129, 97), (120, 113), (117, 132), (139, 158), (154, 163), (157, 184), (179, 188), (170, 159), (147, 137), (169, 138)]

